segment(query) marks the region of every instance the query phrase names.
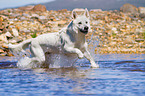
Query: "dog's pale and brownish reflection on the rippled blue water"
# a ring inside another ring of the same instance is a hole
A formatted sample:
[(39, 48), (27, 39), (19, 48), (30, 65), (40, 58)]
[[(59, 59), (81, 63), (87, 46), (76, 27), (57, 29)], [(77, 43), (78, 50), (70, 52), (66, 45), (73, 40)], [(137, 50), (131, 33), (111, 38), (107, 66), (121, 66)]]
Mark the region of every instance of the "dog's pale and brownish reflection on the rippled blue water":
[[(87, 79), (89, 77), (89, 73), (91, 73), (92, 69), (78, 69), (75, 67), (70, 68), (49, 68), (49, 69), (34, 69), (36, 75), (40, 75), (40, 73), (47, 73), (48, 77), (51, 77), (54, 80), (54, 83), (58, 84), (57, 86), (66, 87), (67, 91), (79, 93), (81, 91), (85, 91), (84, 86), (88, 86), (88, 82), (83, 79)], [(44, 78), (43, 78), (44, 79)], [(58, 83), (59, 82), (59, 83)], [(63, 88), (61, 88), (63, 89)]]

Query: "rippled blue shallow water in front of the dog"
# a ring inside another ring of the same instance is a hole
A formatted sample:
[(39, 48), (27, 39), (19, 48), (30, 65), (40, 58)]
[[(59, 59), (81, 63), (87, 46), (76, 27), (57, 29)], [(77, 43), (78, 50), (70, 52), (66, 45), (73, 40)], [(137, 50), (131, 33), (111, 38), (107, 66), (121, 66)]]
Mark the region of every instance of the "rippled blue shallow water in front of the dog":
[(16, 58), (0, 57), (0, 96), (145, 96), (145, 54), (95, 55), (72, 68), (22, 70)]

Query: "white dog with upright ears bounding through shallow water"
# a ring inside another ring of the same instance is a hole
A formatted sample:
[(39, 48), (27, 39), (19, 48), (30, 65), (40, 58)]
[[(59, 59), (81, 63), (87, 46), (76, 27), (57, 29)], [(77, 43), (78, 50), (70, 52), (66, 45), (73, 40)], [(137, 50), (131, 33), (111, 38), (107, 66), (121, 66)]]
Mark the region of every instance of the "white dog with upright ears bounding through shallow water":
[(45, 62), (46, 52), (51, 54), (61, 51), (67, 55), (77, 54), (76, 56), (80, 59), (86, 57), (90, 61), (91, 67), (98, 68), (99, 65), (91, 57), (85, 40), (85, 35), (90, 29), (88, 10), (85, 9), (83, 15), (77, 15), (75, 11), (72, 11), (72, 17), (73, 20), (70, 24), (59, 32), (42, 34), (18, 45), (9, 44), (10, 50), (12, 52), (25, 52), (25, 49), (30, 45), (32, 56), (28, 60), (39, 62), (40, 65)]

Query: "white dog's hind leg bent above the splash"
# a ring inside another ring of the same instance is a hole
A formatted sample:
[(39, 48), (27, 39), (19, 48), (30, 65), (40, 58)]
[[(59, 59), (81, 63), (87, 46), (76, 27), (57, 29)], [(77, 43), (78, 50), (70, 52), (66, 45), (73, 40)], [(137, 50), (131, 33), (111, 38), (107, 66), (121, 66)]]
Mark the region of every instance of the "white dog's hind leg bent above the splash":
[(32, 45), (30, 47), (30, 51), (32, 54), (32, 57), (31, 57), (32, 62), (37, 61), (40, 64), (43, 64), (45, 62), (45, 54), (44, 54), (44, 51), (39, 44), (32, 43)]

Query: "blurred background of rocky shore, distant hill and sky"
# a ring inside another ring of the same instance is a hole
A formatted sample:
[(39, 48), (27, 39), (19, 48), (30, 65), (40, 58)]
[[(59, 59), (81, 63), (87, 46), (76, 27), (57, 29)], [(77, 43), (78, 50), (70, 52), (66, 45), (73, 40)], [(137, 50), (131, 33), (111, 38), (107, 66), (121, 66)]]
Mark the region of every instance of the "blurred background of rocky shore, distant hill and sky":
[(145, 0), (0, 0), (0, 56), (12, 56), (5, 43), (66, 27), (75, 8), (89, 9), (96, 54), (145, 53)]

